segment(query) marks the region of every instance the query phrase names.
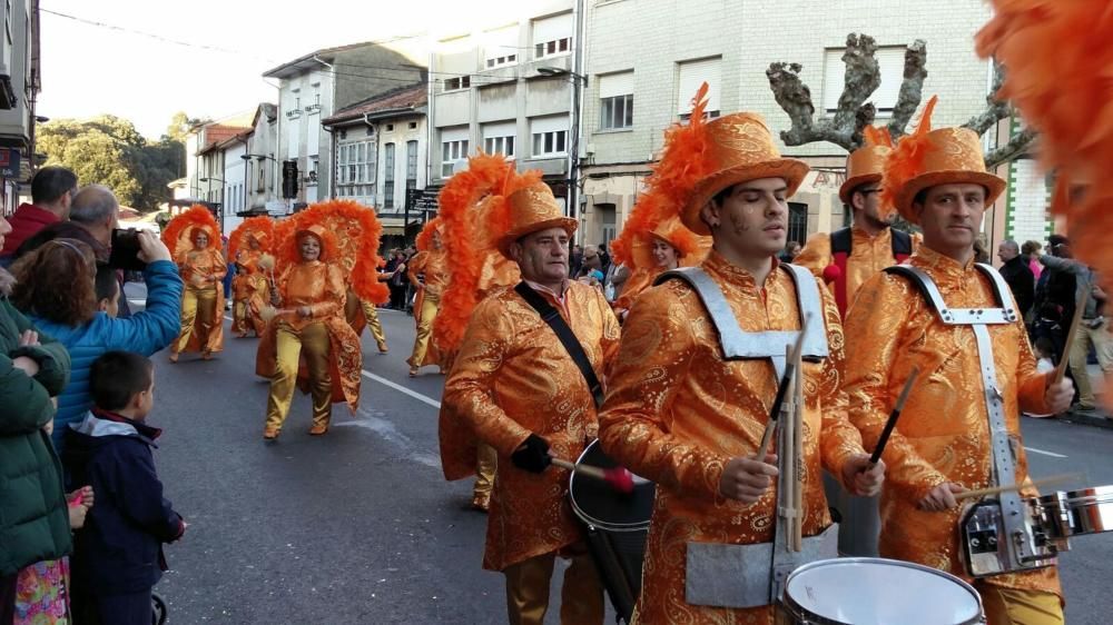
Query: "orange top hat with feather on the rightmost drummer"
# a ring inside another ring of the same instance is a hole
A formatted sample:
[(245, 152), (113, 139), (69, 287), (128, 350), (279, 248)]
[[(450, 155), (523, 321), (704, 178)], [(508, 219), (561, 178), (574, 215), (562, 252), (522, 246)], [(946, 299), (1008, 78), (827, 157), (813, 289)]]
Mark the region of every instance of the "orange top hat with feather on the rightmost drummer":
[(982, 185), (986, 206), (1005, 190), (1005, 181), (985, 170), (976, 132), (969, 128), (932, 130), (936, 101), (934, 96), (928, 100), (916, 130), (902, 138), (885, 161), (881, 201), (892, 202), (912, 224), (919, 222), (913, 202), (924, 189), (958, 182)]

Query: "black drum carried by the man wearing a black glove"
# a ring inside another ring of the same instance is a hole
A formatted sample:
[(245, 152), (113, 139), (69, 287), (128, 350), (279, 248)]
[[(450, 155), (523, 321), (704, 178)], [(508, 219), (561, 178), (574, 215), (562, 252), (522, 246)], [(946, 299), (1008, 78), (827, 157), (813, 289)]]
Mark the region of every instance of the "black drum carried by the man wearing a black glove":
[[(610, 459), (593, 440), (580, 455), (578, 464), (601, 468), (614, 468), (618, 464)], [(588, 525), (610, 532), (638, 532), (649, 528), (653, 514), (652, 482), (636, 480), (633, 493), (618, 493), (605, 482), (583, 477), (572, 472), (569, 482), (569, 499), (572, 512)]]

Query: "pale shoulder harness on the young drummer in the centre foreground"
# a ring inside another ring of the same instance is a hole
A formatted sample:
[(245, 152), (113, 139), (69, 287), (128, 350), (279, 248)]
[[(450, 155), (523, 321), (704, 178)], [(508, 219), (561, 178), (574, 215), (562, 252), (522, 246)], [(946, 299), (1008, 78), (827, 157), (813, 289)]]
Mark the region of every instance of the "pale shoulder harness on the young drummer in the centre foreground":
[[(819, 360), (827, 357), (827, 327), (821, 323), (823, 300), (819, 297), (819, 285), (811, 272), (804, 267), (782, 262), (781, 269), (788, 271), (796, 284), (796, 301), (800, 318), (811, 312), (815, 323), (808, 324), (808, 334), (804, 337), (804, 358)], [(768, 330), (748, 333), (738, 323), (738, 317), (730, 309), (727, 297), (719, 285), (699, 267), (682, 267), (658, 276), (654, 285), (666, 280), (680, 279), (692, 288), (703, 304), (716, 331), (719, 334), (719, 346), (726, 360), (745, 360), (752, 358), (769, 358), (779, 380), (785, 373), (785, 346), (796, 343), (797, 331)]]

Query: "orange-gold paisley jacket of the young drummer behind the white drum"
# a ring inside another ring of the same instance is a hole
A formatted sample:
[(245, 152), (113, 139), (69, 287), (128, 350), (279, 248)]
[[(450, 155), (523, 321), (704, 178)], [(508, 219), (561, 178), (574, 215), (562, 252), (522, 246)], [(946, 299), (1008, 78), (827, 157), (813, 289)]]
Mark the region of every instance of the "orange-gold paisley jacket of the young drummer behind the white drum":
[[(795, 282), (774, 264), (760, 287), (718, 252), (712, 251), (701, 265), (722, 289), (743, 331), (800, 327)], [(840, 391), (838, 309), (825, 288), (820, 287), (820, 294), (829, 356), (804, 365), (805, 536), (831, 523), (821, 468), (841, 475), (846, 459), (863, 453)], [(772, 623), (768, 606), (729, 609), (684, 601), (689, 540), (772, 542), (776, 484), (748, 506), (719, 495), (725, 465), (738, 456), (752, 457), (761, 440), (778, 385), (770, 360), (725, 360), (698, 294), (673, 279), (638, 298), (623, 326), (608, 381), (600, 415), (603, 449), (636, 474), (657, 482), (638, 621)]]

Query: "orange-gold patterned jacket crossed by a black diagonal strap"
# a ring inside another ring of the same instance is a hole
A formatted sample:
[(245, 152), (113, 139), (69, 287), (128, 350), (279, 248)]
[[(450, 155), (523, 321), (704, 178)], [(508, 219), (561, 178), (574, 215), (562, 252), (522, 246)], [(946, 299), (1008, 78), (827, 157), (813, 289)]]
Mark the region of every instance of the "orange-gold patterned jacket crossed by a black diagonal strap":
[[(618, 321), (602, 294), (569, 282), (561, 305), (538, 292), (561, 312), (602, 379), (619, 339)], [(598, 430), (594, 400), (555, 333), (514, 289), (498, 291), (475, 307), (443, 401), (499, 452), (484, 568), (502, 571), (580, 540), (565, 500), (568, 472), (550, 467), (540, 475), (529, 473), (515, 467), (510, 455), (532, 433), (548, 440), (558, 457), (575, 460)], [(450, 436), (447, 445), (463, 447), (466, 442)], [(474, 450), (467, 462), (474, 466)]]

